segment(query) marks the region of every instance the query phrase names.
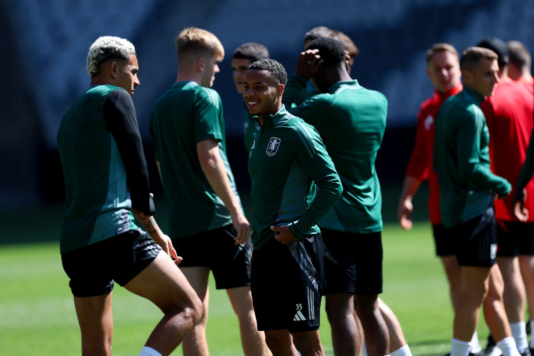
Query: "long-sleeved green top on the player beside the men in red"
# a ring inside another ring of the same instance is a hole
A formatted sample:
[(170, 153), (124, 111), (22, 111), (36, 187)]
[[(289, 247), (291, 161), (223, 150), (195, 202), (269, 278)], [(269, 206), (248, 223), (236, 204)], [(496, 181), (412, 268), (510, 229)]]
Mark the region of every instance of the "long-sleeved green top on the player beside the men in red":
[(434, 170), (443, 226), (453, 227), (493, 206), (494, 193), (512, 186), (490, 170), (490, 135), (480, 108), (484, 96), (464, 86), (445, 100), (436, 117)]

